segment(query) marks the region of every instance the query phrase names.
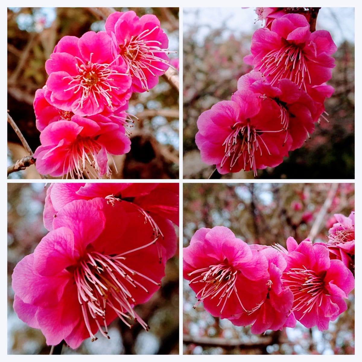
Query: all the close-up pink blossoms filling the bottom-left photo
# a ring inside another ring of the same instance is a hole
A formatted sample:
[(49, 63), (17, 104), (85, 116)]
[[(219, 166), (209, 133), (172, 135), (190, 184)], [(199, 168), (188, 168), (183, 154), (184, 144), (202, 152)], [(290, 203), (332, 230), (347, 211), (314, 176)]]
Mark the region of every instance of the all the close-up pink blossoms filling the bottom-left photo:
[[(14, 268), (14, 311), (48, 345), (77, 348), (160, 288), (177, 249), (178, 184), (52, 184), (49, 233)], [(109, 337), (108, 337), (109, 338)]]

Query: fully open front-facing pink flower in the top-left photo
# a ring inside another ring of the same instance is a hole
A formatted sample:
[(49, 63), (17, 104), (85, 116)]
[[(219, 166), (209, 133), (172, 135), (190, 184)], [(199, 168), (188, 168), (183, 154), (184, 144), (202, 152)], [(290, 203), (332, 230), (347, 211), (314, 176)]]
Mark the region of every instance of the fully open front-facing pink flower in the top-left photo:
[(64, 111), (85, 116), (115, 109), (131, 97), (131, 77), (117, 58), (112, 38), (88, 31), (65, 36), (45, 63), (49, 74), (46, 100)]

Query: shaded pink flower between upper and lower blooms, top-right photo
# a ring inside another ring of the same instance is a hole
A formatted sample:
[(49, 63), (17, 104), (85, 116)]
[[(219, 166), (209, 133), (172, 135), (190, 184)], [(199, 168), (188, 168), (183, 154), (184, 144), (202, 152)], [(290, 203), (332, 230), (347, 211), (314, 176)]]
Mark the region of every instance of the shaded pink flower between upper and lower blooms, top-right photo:
[(273, 87), (266, 83), (260, 72), (249, 72), (240, 77), (237, 89), (249, 89), (264, 102), (273, 102), (279, 108), (279, 121), (285, 131), (285, 139), (292, 138), (291, 151), (303, 145), (314, 131), (314, 122), (319, 114), (312, 98), (289, 79), (279, 80)]

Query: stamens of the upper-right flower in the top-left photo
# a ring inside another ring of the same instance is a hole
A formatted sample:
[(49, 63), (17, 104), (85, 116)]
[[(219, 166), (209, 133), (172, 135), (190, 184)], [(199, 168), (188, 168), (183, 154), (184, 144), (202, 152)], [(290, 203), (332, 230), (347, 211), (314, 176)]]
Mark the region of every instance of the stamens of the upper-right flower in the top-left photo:
[(165, 72), (165, 70), (157, 67), (155, 63), (160, 62), (169, 65), (168, 60), (158, 56), (160, 53), (169, 54), (169, 50), (162, 49), (159, 41), (147, 39), (156, 29), (159, 29), (159, 26), (155, 26), (151, 30), (146, 29), (136, 37), (132, 35), (128, 41), (125, 39), (124, 43), (119, 45), (120, 55), (125, 60), (131, 76), (138, 78), (142, 89), (147, 91), (147, 75), (144, 71), (147, 70), (156, 77), (155, 71)]

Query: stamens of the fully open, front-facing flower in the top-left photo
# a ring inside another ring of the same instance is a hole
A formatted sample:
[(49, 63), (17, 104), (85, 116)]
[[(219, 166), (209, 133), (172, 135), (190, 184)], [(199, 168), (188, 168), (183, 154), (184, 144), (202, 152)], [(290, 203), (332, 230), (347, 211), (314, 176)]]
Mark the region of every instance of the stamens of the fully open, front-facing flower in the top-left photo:
[(113, 109), (111, 94), (113, 90), (119, 89), (119, 87), (113, 85), (115, 81), (117, 81), (114, 77), (124, 76), (126, 74), (119, 73), (117, 70), (110, 68), (111, 64), (115, 62), (117, 58), (110, 64), (98, 64), (92, 63), (92, 55), (93, 53), (90, 54), (90, 59), (87, 63), (84, 63), (82, 59), (76, 57), (81, 63), (80, 65), (76, 64), (79, 75), (63, 78), (72, 78), (68, 83), (71, 87), (65, 89), (64, 92), (74, 89), (74, 94), (79, 94), (80, 99), (75, 109), (83, 108), (83, 103), (88, 100), (89, 97), (94, 99), (98, 107), (99, 102), (102, 101)]

